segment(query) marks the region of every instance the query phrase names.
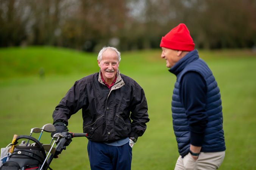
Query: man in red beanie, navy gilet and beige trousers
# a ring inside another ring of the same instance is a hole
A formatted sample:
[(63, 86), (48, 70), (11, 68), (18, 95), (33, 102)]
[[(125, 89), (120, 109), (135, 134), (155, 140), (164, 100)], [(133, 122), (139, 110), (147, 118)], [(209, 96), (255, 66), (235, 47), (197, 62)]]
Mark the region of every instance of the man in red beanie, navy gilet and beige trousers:
[(177, 78), (172, 119), (180, 156), (175, 170), (218, 169), (226, 147), (220, 90), (212, 71), (199, 58), (183, 23), (162, 37), (160, 47), (161, 57)]

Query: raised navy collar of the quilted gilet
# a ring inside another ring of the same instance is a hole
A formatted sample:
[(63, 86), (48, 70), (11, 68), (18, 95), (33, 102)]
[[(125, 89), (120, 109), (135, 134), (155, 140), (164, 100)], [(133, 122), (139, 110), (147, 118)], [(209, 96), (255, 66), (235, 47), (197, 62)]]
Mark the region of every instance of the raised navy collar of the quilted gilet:
[(188, 65), (189, 63), (197, 60), (199, 58), (197, 49), (190, 51), (187, 53), (182, 59), (180, 59), (177, 63), (175, 63), (169, 71), (176, 76)]

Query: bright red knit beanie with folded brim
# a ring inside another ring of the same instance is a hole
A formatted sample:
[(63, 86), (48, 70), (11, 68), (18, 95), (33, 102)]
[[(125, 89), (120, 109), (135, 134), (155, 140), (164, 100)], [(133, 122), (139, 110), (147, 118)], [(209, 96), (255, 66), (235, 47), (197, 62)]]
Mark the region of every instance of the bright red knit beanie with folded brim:
[(162, 37), (160, 47), (181, 51), (192, 51), (194, 50), (195, 44), (186, 25), (184, 23), (180, 23)]

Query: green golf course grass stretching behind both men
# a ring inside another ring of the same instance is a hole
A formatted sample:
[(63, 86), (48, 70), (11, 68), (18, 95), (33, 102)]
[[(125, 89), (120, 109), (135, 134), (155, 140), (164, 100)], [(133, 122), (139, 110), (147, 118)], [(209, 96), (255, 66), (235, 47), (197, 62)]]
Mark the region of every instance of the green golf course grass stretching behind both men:
[[(249, 50), (199, 51), (219, 84), (226, 157), (220, 169), (256, 169), (256, 54)], [(171, 94), (175, 76), (165, 68), (160, 50), (121, 54), (120, 71), (136, 80), (148, 101), (150, 122), (133, 148), (133, 170), (173, 169), (178, 158), (172, 128)], [(41, 79), (38, 71), (44, 68)], [(97, 54), (52, 47), (0, 49), (0, 147), (13, 134), (52, 123), (52, 112), (75, 80), (98, 72)], [(69, 129), (82, 132), (81, 111)], [(38, 137), (38, 134), (34, 134)], [(42, 142), (50, 142), (44, 132)], [(75, 138), (51, 166), (55, 170), (90, 169), (87, 139)], [(67, 168), (68, 167), (68, 168)]]

